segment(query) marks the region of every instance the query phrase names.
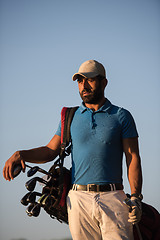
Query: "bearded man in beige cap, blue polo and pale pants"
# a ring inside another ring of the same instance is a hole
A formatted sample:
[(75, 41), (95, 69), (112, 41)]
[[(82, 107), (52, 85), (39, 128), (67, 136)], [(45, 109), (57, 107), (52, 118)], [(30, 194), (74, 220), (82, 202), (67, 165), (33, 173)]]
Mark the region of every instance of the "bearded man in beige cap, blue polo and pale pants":
[[(138, 133), (131, 114), (105, 98), (103, 65), (84, 62), (77, 80), (82, 105), (71, 124), (72, 184), (67, 198), (69, 227), (74, 240), (133, 239), (132, 224), (141, 218), (142, 172)], [(5, 164), (6, 180), (13, 179), (16, 163), (45, 163), (60, 151), (61, 124), (47, 146), (17, 151)], [(125, 153), (132, 211), (124, 204), (122, 156)]]

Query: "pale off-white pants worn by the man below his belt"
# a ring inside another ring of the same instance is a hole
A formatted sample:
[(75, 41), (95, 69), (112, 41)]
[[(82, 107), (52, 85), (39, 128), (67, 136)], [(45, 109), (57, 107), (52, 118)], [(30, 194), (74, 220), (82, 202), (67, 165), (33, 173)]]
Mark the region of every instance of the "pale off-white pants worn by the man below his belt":
[(70, 190), (67, 207), (73, 240), (133, 240), (125, 198), (122, 190), (99, 193)]

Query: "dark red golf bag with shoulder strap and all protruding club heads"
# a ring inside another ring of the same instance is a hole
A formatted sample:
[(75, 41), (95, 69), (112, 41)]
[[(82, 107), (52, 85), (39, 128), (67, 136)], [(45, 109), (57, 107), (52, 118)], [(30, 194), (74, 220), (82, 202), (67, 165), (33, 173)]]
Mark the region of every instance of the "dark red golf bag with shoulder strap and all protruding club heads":
[[(68, 214), (66, 197), (71, 188), (71, 170), (63, 166), (64, 158), (70, 154), (70, 125), (74, 113), (78, 107), (66, 108), (61, 111), (61, 150), (59, 158), (47, 172), (38, 166), (30, 167), (27, 176), (33, 176), (37, 171), (46, 174), (47, 179), (34, 177), (26, 182), (25, 186), (29, 191), (22, 199), (21, 203), (25, 206), (28, 216), (39, 216), (40, 209), (43, 208), (51, 218), (68, 224)], [(21, 171), (21, 165), (15, 169), (14, 175), (17, 176)], [(45, 184), (42, 193), (35, 192), (36, 182)], [(36, 201), (36, 197), (38, 201)]]

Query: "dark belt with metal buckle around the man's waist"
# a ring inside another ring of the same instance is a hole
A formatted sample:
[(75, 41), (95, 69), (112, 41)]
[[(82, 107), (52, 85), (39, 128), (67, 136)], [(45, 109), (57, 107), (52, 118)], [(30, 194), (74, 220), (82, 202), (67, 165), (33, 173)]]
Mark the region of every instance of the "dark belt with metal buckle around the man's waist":
[(88, 185), (79, 185), (73, 184), (72, 190), (75, 191), (93, 191), (93, 192), (108, 192), (108, 191), (116, 191), (123, 190), (123, 185), (120, 183), (111, 183), (105, 185), (96, 185), (96, 184), (88, 184)]

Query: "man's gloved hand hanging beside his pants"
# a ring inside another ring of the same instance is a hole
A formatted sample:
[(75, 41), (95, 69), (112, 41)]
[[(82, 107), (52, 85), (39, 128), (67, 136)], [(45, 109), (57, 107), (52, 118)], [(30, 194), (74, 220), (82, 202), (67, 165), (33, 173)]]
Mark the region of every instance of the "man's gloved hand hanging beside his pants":
[(141, 200), (137, 197), (131, 197), (127, 205), (130, 206), (128, 222), (132, 224), (138, 223), (142, 216)]

